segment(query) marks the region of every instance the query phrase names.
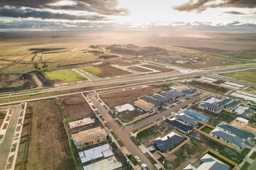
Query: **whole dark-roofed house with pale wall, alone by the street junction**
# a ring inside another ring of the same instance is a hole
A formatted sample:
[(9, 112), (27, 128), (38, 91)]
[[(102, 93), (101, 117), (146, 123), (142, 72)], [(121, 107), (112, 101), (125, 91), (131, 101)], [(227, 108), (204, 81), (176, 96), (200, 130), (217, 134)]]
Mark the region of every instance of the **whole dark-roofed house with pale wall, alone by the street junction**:
[(160, 151), (160, 152), (166, 152), (170, 151), (173, 148), (175, 148), (177, 145), (182, 143), (185, 138), (182, 136), (176, 134), (175, 132), (171, 132), (168, 135), (165, 135), (164, 137), (159, 137), (153, 140), (153, 145)]

